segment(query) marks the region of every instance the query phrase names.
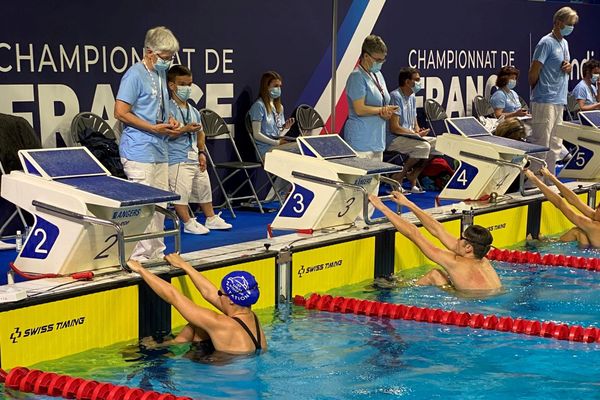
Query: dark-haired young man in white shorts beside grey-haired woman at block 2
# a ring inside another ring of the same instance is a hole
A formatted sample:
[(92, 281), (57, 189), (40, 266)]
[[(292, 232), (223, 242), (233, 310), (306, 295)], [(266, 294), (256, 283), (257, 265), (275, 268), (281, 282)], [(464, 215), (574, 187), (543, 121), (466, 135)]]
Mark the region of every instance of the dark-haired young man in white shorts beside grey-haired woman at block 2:
[[(179, 130), (183, 132), (168, 140), (169, 189), (181, 196), (173, 202), (175, 212), (183, 221), (186, 233), (204, 235), (210, 229), (231, 229), (231, 224), (221, 218), (221, 213), (215, 215), (212, 206), (200, 113), (187, 102), (192, 93), (192, 72), (184, 65), (171, 67), (167, 85), (171, 96), (169, 113), (179, 122)], [(189, 202), (200, 204), (206, 216), (204, 225), (190, 215)]]

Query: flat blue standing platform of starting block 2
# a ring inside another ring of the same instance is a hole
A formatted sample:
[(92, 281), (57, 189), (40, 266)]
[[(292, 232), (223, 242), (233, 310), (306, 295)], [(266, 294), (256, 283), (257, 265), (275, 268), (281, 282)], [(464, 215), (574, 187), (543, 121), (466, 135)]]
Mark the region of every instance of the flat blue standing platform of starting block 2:
[(54, 179), (55, 182), (76, 187), (121, 202), (122, 207), (166, 203), (178, 200), (179, 195), (141, 183), (129, 182), (112, 176), (86, 176)]

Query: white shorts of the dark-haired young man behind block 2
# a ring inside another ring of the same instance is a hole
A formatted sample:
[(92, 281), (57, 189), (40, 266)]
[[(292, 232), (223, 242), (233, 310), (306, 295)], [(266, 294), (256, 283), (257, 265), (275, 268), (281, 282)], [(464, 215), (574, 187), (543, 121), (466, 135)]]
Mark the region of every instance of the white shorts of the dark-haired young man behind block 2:
[(181, 196), (181, 199), (173, 201), (173, 204), (212, 202), (208, 170), (201, 172), (198, 164), (169, 165), (169, 190)]

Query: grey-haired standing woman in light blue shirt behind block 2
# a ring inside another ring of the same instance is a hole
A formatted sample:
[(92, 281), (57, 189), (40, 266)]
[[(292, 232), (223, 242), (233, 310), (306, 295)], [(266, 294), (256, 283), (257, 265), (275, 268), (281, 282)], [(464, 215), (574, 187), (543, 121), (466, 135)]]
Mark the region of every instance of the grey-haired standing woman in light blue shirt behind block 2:
[[(169, 115), (166, 73), (179, 42), (169, 29), (150, 29), (144, 40), (144, 58), (131, 66), (121, 79), (115, 102), (115, 117), (124, 125), (119, 143), (123, 170), (129, 180), (169, 189), (167, 139), (181, 132)], [(146, 232), (163, 230), (164, 216), (155, 213)], [(162, 258), (164, 239), (138, 242), (131, 259)]]

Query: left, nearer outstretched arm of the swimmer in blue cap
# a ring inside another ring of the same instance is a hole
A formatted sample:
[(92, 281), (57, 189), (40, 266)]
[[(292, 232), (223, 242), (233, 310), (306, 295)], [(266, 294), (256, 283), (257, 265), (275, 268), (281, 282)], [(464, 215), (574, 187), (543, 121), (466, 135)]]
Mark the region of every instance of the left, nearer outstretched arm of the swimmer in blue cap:
[(129, 260), (127, 261), (127, 265), (133, 272), (137, 272), (142, 277), (148, 286), (154, 290), (154, 293), (175, 307), (183, 318), (192, 325), (204, 329), (209, 334), (221, 326), (218, 320), (219, 314), (208, 308), (196, 305), (177, 291), (173, 285), (144, 268), (139, 261)]

